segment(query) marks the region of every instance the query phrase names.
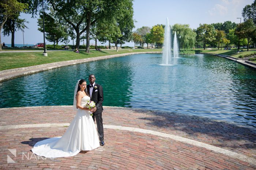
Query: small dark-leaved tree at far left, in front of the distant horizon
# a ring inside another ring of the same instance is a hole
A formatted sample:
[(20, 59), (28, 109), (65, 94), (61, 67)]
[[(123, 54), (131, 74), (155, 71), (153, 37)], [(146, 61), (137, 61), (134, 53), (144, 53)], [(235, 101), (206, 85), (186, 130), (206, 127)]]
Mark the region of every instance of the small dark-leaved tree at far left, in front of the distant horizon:
[(28, 23), (26, 19), (20, 19), (19, 13), (17, 13), (13, 18), (7, 19), (3, 27), (3, 34), (9, 36), (11, 34), (11, 47), (14, 47), (14, 35), (15, 31), (23, 30), (27, 28), (25, 23)]

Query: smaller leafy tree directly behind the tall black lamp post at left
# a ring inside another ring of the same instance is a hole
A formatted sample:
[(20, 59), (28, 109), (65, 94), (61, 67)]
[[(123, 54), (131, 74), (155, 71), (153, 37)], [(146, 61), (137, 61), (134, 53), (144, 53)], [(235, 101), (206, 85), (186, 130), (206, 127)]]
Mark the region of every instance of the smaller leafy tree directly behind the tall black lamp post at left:
[[(56, 17), (56, 13), (53, 10), (50, 10), (50, 13), (44, 14), (44, 22), (45, 22), (45, 38), (50, 42), (53, 42), (53, 47), (55, 48), (55, 44), (58, 45), (59, 42), (68, 42), (68, 27), (65, 26), (64, 23), (61, 23)], [(38, 19), (38, 30), (43, 32), (43, 15), (40, 14), (40, 18)]]

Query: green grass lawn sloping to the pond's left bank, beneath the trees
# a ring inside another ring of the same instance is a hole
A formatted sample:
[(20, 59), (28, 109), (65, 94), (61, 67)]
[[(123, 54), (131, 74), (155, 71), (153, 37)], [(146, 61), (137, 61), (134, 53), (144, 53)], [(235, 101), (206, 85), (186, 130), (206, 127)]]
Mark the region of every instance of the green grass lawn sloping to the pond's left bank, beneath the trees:
[(46, 63), (68, 61), (73, 59), (82, 59), (90, 57), (99, 57), (104, 55), (123, 54), (132, 52), (146, 52), (155, 51), (161, 52), (162, 49), (120, 49), (116, 50), (90, 50), (90, 53), (85, 53), (85, 50), (79, 50), (80, 54), (73, 51), (47, 51), (48, 57), (42, 55), (40, 52), (21, 52), (21, 53), (0, 53), (0, 70), (14, 69), (19, 67), (34, 66)]

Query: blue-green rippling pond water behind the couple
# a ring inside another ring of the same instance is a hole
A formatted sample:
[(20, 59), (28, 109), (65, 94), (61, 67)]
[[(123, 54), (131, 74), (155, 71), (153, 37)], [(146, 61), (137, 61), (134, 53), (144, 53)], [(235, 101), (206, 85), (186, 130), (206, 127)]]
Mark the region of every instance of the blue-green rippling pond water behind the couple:
[[(256, 70), (213, 55), (136, 54), (61, 67), (0, 83), (0, 108), (72, 105), (76, 81), (93, 73), (105, 106), (146, 108), (256, 127)], [(35, 113), (36, 114), (36, 113)]]

